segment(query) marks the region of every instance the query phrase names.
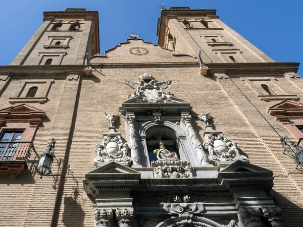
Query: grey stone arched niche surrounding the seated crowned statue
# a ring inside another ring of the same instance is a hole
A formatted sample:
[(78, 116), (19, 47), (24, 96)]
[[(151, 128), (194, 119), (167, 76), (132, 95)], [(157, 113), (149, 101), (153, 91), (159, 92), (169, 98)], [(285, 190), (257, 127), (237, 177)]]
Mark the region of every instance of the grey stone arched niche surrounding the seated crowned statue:
[(138, 146), (142, 166), (150, 167), (150, 162), (155, 160), (155, 156), (151, 152), (153, 152), (153, 149), (159, 149), (158, 144), (161, 140), (165, 142), (165, 147), (169, 151), (176, 152), (174, 149), (177, 149), (176, 153), (181, 160), (190, 161), (192, 166), (198, 166), (197, 157), (193, 152), (191, 143), (187, 140), (185, 132), (179, 127), (178, 123), (170, 121), (163, 121), (161, 124), (155, 121), (142, 123), (138, 132)]

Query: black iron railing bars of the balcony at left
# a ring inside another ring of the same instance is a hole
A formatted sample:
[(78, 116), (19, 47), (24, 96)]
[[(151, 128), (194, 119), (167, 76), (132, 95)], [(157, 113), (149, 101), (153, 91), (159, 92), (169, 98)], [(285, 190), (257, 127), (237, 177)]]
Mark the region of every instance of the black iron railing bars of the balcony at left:
[(28, 161), (33, 142), (0, 142), (0, 161)]

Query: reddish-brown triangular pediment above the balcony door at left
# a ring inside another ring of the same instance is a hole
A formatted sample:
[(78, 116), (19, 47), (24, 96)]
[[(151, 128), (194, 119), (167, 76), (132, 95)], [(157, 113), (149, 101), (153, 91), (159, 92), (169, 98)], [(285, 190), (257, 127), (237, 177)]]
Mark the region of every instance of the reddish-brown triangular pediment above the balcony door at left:
[(29, 122), (31, 125), (39, 125), (45, 112), (34, 106), (20, 104), (0, 109), (0, 123), (4, 124), (8, 121)]

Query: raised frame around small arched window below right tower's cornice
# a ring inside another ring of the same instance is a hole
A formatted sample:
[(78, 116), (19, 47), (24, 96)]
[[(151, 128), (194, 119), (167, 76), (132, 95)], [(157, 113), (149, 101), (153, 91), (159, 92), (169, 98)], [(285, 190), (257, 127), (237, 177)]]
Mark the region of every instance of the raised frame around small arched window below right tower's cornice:
[[(242, 81), (245, 81), (246, 84), (253, 90), (255, 91), (255, 93), (258, 95), (258, 98), (260, 100), (298, 100), (299, 98), (296, 95), (289, 95), (287, 93), (287, 91), (279, 86), (276, 82), (275, 82), (275, 78), (269, 78), (269, 77), (263, 77), (263, 78), (258, 78), (258, 77), (245, 77), (245, 78), (241, 78)], [(261, 90), (261, 88), (259, 89), (257, 87), (257, 85), (254, 83), (254, 81), (266, 81), (266, 82), (270, 82), (270, 87), (275, 87), (275, 92), (279, 93), (276, 95), (265, 95), (266, 92), (263, 92)], [(277, 92), (279, 91), (279, 92)]]

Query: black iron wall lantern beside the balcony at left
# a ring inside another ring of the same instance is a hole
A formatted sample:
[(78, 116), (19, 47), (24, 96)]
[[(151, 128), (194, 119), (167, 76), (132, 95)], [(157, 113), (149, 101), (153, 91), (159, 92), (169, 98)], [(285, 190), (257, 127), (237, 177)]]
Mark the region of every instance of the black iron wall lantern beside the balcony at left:
[(43, 176), (47, 176), (52, 173), (51, 169), (55, 156), (55, 143), (56, 140), (53, 138), (52, 142), (48, 146), (48, 149), (43, 154), (41, 154), (39, 158), (37, 172), (39, 175), (41, 175), (40, 179)]

